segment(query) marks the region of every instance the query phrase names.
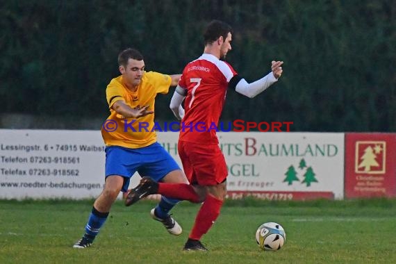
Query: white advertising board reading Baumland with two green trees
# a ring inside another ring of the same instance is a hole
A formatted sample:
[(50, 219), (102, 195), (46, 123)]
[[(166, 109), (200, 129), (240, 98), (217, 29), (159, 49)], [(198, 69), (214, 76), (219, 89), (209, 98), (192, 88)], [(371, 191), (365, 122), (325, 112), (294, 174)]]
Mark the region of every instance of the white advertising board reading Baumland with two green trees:
[[(220, 133), (227, 188), (265, 199), (342, 199), (343, 133)], [(256, 195), (260, 197), (260, 195)]]

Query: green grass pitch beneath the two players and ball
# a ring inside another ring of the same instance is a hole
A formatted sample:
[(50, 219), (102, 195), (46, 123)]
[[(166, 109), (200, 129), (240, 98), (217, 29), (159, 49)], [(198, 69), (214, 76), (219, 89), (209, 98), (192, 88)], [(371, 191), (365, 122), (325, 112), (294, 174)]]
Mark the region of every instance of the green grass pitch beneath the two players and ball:
[[(92, 247), (73, 249), (91, 200), (0, 201), (0, 263), (396, 263), (396, 200), (226, 201), (202, 242), (185, 252), (197, 204), (181, 202), (171, 236), (151, 220), (154, 201), (117, 201)], [(264, 222), (286, 230), (279, 251), (262, 251), (255, 233)]]

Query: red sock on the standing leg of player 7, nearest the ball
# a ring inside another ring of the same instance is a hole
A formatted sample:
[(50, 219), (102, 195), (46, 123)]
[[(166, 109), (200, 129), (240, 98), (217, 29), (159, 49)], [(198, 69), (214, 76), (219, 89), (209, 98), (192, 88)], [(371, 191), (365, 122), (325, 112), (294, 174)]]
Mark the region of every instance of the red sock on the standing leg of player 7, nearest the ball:
[(222, 208), (222, 205), (222, 200), (219, 200), (212, 195), (206, 195), (206, 200), (198, 211), (197, 217), (195, 218), (195, 224), (192, 227), (189, 238), (200, 240), (215, 223), (215, 220), (220, 215), (220, 208)]

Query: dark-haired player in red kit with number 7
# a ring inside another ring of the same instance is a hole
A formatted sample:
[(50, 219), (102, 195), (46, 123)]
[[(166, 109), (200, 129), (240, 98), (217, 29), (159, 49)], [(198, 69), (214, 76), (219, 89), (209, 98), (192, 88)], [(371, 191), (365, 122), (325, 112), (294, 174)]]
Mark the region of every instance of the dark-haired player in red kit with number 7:
[[(156, 183), (143, 178), (126, 199), (126, 205), (131, 205), (142, 197), (159, 193), (192, 202), (204, 201), (185, 243), (185, 250), (207, 250), (200, 242), (201, 237), (211, 229), (220, 214), (226, 195), (228, 173), (215, 128), (227, 88), (252, 98), (275, 83), (283, 71), (282, 61), (272, 61), (272, 72), (258, 81), (247, 83), (224, 61), (226, 53), (231, 50), (232, 33), (231, 26), (224, 22), (214, 20), (208, 24), (204, 33), (204, 54), (185, 66), (170, 103), (174, 115), (182, 120), (178, 151), (190, 185)], [(184, 99), (183, 110), (181, 104)]]

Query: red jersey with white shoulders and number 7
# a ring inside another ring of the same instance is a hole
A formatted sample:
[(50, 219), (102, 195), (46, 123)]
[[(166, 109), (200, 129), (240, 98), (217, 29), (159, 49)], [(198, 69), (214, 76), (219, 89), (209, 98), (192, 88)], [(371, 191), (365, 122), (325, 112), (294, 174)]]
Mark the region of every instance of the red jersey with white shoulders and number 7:
[(206, 53), (185, 66), (179, 81), (179, 86), (187, 90), (179, 140), (218, 144), (216, 128), (226, 89), (235, 75), (231, 65)]

